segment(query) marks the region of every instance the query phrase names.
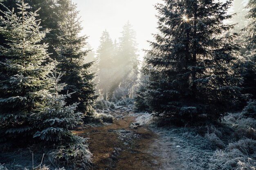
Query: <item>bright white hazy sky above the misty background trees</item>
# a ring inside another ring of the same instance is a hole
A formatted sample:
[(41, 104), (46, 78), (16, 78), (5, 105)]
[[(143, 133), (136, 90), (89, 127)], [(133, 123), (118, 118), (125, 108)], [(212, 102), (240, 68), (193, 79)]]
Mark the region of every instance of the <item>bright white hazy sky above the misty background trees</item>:
[(73, 0), (80, 11), (83, 31), (89, 37), (88, 42), (94, 51), (99, 46), (103, 30), (107, 30), (113, 40), (121, 36), (122, 27), (129, 20), (137, 33), (140, 57), (148, 49), (146, 40), (153, 40), (156, 33), (157, 11), (154, 4), (162, 0)]

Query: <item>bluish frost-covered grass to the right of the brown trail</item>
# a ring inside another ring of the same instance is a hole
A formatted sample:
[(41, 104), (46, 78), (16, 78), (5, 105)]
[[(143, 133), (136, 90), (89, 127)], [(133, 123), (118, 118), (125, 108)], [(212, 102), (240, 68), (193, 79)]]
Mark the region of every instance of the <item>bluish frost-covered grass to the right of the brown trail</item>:
[(148, 152), (161, 158), (159, 170), (256, 170), (255, 119), (232, 113), (217, 125), (159, 128), (159, 118), (133, 116), (158, 135)]

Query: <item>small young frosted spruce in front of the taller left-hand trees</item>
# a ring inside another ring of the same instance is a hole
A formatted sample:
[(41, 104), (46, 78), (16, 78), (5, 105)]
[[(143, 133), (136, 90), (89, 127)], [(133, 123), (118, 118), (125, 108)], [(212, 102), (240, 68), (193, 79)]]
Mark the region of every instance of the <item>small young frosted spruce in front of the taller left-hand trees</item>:
[(78, 103), (66, 105), (65, 99), (71, 98), (75, 92), (60, 95), (66, 86), (65, 83), (59, 84), (64, 73), (56, 71), (56, 61), (53, 73), (47, 76), (47, 81), (50, 83), (50, 88), (40, 91), (45, 105), (38, 107), (37, 112), (32, 115), (34, 128), (38, 131), (34, 134), (34, 138), (39, 137), (43, 141), (55, 144), (67, 144), (72, 141), (73, 134), (69, 130), (81, 123), (81, 114), (75, 112)]

